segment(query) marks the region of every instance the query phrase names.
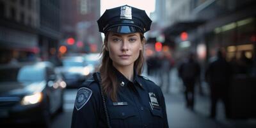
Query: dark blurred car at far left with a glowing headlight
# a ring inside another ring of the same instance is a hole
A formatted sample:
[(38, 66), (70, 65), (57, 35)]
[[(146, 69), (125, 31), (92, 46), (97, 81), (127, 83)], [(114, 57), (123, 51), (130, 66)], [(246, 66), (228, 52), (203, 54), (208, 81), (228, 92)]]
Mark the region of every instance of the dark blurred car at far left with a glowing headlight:
[(63, 110), (65, 81), (52, 63), (0, 66), (1, 124), (49, 127), (51, 115)]

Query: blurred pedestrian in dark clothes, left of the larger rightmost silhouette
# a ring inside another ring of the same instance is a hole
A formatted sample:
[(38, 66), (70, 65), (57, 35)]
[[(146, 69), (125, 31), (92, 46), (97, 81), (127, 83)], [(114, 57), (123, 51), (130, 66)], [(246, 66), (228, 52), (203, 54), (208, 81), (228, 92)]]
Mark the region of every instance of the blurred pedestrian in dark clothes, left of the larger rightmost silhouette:
[(186, 106), (193, 110), (195, 104), (195, 83), (200, 75), (200, 65), (195, 60), (195, 54), (189, 53), (188, 58), (180, 64), (178, 72), (185, 87)]

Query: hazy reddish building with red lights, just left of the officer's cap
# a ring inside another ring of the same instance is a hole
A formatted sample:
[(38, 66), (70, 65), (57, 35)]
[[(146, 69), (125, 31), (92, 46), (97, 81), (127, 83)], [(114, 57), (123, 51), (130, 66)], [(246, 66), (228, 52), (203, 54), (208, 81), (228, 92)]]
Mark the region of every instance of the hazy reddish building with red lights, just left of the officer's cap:
[(74, 38), (74, 45), (67, 45), (69, 52), (99, 52), (102, 45), (97, 26), (100, 17), (100, 1), (65, 0), (61, 3), (62, 44)]

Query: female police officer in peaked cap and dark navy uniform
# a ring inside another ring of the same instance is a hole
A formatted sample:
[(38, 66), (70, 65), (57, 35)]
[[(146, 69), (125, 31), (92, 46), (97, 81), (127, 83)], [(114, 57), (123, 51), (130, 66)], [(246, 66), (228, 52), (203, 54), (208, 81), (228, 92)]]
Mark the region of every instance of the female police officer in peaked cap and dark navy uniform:
[(125, 5), (106, 10), (97, 22), (105, 35), (101, 80), (91, 78), (77, 91), (72, 127), (168, 127), (161, 89), (140, 76), (143, 34), (152, 20)]

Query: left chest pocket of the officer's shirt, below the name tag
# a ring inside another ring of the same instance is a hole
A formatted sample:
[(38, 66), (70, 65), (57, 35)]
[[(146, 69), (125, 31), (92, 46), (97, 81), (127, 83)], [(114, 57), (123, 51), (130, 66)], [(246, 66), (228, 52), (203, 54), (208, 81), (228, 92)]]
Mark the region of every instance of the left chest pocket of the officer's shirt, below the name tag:
[(108, 111), (111, 127), (127, 128), (136, 127), (136, 124), (139, 124), (138, 116), (129, 106), (109, 106)]

